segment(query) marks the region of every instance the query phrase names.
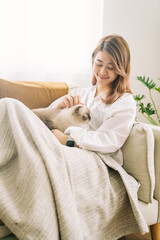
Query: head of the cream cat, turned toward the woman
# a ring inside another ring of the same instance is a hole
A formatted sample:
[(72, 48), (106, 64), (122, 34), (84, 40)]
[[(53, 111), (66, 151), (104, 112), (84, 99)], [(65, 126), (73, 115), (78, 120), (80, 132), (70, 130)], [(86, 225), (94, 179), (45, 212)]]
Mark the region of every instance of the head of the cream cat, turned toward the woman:
[(70, 108), (72, 117), (77, 124), (87, 124), (91, 120), (90, 110), (82, 104)]

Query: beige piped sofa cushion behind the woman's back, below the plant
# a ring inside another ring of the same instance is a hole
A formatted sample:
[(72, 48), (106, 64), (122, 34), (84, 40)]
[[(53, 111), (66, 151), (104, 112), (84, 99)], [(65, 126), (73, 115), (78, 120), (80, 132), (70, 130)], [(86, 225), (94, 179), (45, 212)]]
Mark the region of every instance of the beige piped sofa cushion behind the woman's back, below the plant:
[(155, 187), (154, 135), (149, 125), (135, 123), (122, 147), (124, 169), (139, 183), (138, 198), (151, 203)]

